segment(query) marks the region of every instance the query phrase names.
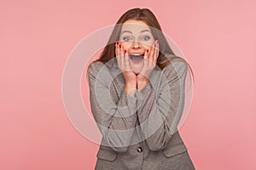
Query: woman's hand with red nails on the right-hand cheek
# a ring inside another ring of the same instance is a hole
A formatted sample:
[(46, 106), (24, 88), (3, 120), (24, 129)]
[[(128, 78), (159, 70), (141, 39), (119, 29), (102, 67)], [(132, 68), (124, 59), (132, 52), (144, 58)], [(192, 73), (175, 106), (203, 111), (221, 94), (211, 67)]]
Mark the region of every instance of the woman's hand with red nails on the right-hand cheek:
[(150, 51), (146, 51), (144, 54), (143, 69), (137, 75), (137, 87), (140, 91), (148, 83), (148, 79), (151, 75), (151, 72), (154, 70), (156, 61), (159, 56), (159, 41), (156, 40), (151, 46)]

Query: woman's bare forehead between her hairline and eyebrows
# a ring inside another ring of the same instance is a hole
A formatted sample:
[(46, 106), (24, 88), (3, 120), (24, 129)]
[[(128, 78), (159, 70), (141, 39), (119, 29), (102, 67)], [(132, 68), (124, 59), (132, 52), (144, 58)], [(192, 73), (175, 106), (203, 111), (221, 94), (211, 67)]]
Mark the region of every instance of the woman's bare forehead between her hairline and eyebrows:
[(137, 33), (143, 30), (150, 31), (149, 26), (142, 20), (127, 20), (122, 26), (121, 33), (123, 31), (131, 31)]

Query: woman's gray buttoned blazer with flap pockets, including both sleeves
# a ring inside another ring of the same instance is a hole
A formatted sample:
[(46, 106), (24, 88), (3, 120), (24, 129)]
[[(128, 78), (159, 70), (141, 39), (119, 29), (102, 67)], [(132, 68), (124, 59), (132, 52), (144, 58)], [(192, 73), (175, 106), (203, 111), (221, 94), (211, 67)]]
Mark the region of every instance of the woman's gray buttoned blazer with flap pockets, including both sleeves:
[(187, 71), (181, 61), (156, 66), (131, 97), (116, 59), (90, 64), (90, 106), (102, 133), (96, 170), (195, 169), (177, 131)]

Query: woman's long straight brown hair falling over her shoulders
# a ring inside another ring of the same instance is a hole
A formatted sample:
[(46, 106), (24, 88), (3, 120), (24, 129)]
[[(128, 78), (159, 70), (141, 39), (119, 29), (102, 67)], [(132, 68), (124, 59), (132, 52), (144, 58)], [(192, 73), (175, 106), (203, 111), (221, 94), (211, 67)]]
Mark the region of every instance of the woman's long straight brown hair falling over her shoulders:
[[(154, 39), (159, 40), (160, 48), (159, 48), (159, 56), (156, 62), (156, 65), (160, 67), (161, 70), (163, 70), (166, 65), (169, 65), (173, 60), (182, 60), (189, 66), (189, 71), (192, 73), (192, 77), (194, 80), (194, 73), (189, 65), (189, 63), (183, 59), (182, 57), (179, 57), (175, 55), (170, 48), (168, 42), (166, 41), (166, 37), (164, 36), (160, 24), (158, 20), (155, 18), (154, 14), (148, 9), (148, 8), (131, 8), (130, 10), (126, 11), (125, 14), (123, 14), (119, 20), (117, 21), (116, 25), (113, 28), (113, 32), (111, 36), (108, 39), (108, 44), (103, 48), (102, 54), (100, 54), (99, 59), (96, 59), (96, 61), (100, 61), (103, 64), (107, 63), (111, 59), (113, 60), (115, 56), (115, 47), (114, 42), (119, 41), (119, 35), (122, 28), (122, 25), (127, 20), (141, 20), (145, 22), (152, 32)], [(166, 58), (165, 54), (171, 54), (171, 58)]]

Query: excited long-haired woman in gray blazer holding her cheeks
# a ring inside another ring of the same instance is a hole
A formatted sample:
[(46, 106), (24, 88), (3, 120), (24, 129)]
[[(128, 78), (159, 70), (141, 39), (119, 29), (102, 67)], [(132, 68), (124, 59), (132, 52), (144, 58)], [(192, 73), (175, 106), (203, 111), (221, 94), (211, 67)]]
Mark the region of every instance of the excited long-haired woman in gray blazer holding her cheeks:
[(195, 169), (177, 131), (188, 68), (148, 8), (120, 17), (89, 66), (91, 111), (102, 133), (96, 169)]

